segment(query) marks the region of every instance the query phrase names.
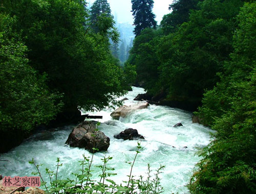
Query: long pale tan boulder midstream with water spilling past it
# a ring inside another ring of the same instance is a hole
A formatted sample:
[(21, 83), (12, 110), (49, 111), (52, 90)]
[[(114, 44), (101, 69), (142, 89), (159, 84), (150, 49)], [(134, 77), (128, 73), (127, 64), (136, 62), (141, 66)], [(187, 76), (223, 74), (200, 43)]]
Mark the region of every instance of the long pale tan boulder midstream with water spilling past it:
[(139, 109), (144, 109), (148, 106), (149, 104), (145, 101), (130, 105), (130, 106), (121, 106), (118, 109), (114, 110), (111, 113), (111, 117), (114, 119), (119, 119), (120, 116), (121, 117), (125, 117), (128, 113), (131, 113), (135, 110), (139, 110)]

